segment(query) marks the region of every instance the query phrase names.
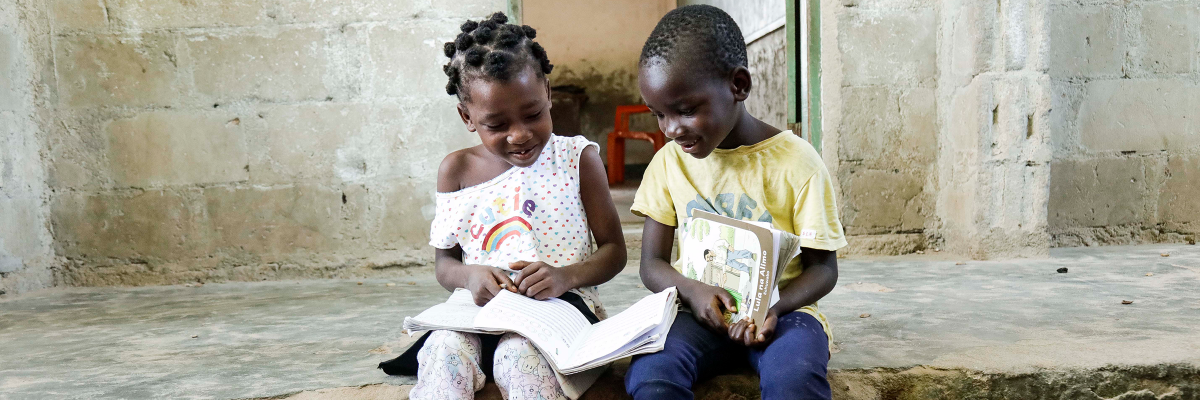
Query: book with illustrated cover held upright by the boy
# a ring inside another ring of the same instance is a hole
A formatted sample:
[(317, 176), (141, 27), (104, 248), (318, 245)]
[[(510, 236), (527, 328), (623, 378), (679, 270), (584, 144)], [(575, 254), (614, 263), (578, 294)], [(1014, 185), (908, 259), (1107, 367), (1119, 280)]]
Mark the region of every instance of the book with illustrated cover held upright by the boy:
[(779, 300), (782, 268), (800, 255), (800, 237), (767, 222), (701, 210), (694, 210), (680, 231), (676, 269), (733, 294), (738, 312), (725, 314), (730, 323), (750, 317), (762, 327), (767, 310)]

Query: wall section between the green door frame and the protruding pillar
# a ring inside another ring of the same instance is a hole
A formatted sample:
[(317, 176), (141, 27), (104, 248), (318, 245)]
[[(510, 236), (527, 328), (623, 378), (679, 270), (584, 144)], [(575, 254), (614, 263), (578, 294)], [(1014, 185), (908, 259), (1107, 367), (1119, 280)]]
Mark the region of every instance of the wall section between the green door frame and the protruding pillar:
[(823, 155), (845, 253), (925, 249), (937, 160), (937, 20), (930, 1), (822, 2)]

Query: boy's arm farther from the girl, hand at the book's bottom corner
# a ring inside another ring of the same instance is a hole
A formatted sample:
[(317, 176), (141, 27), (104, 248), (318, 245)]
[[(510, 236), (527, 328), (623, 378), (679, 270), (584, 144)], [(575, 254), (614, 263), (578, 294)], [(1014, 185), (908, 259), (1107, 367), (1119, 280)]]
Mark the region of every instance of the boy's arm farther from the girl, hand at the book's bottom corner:
[(800, 276), (793, 279), (786, 287), (779, 288), (779, 302), (767, 311), (763, 326), (760, 328), (752, 322), (739, 321), (730, 328), (730, 339), (746, 346), (768, 344), (775, 334), (779, 316), (817, 303), (838, 285), (836, 251), (803, 247), (800, 267), (804, 270)]

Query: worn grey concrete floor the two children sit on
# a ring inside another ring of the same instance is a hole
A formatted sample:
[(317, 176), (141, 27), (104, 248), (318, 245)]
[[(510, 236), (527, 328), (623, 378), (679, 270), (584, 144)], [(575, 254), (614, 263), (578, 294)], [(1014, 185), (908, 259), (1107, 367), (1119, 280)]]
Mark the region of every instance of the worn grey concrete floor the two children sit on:
[[(1062, 267), (1069, 271), (1056, 273)], [(997, 262), (842, 259), (840, 271), (821, 303), (835, 334), (835, 375), (918, 365), (1200, 368), (1198, 246), (1058, 249), (1048, 259)], [(647, 293), (636, 262), (601, 287), (611, 311)], [(242, 399), (372, 383), (388, 386), (367, 387), (382, 394), (366, 398), (400, 395), (396, 386), (410, 380), (374, 365), (407, 347), (404, 316), (445, 297), (420, 270), (362, 285), (70, 288), (0, 300), (0, 399)]]

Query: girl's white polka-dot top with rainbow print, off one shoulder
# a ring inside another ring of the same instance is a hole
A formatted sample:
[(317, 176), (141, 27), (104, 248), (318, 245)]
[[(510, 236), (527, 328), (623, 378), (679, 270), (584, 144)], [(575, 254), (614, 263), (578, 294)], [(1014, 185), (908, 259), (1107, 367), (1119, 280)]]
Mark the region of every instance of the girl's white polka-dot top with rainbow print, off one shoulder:
[[(580, 197), (580, 155), (596, 147), (584, 137), (551, 136), (538, 161), (512, 167), (486, 183), (437, 193), (430, 245), (462, 247), (463, 263), (510, 270), (509, 263), (541, 261), (565, 267), (592, 255), (592, 234)], [(601, 184), (601, 183), (590, 183)], [(601, 320), (595, 287), (571, 289)]]

